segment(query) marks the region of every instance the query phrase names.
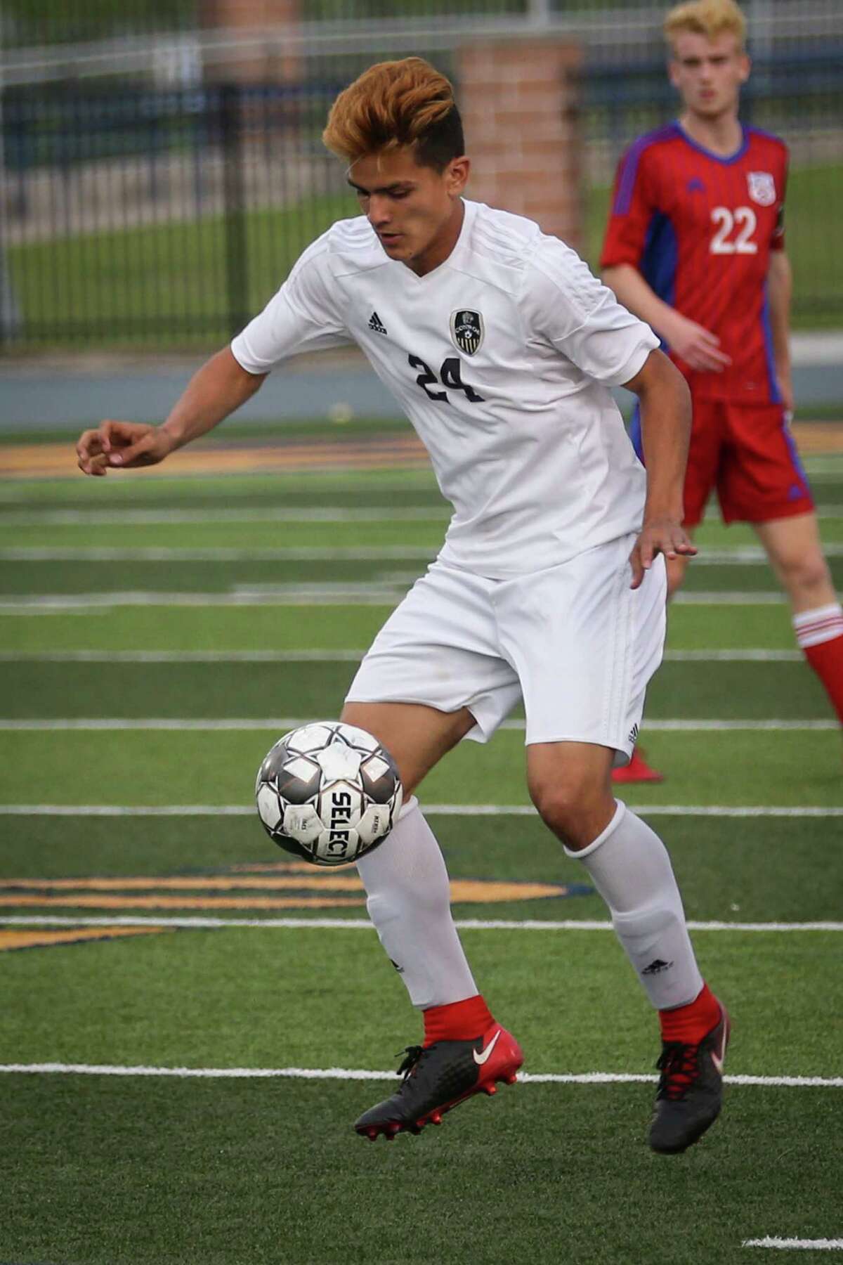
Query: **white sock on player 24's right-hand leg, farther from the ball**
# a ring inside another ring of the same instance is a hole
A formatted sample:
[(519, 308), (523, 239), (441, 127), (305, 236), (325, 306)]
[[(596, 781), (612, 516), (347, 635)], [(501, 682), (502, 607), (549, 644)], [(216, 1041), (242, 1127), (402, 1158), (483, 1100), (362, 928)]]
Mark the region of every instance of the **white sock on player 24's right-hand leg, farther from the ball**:
[(665, 1011), (699, 996), (703, 977), (667, 849), (650, 826), (618, 802), (602, 835), (569, 856), (583, 861), (612, 913), (618, 940), (643, 989)]

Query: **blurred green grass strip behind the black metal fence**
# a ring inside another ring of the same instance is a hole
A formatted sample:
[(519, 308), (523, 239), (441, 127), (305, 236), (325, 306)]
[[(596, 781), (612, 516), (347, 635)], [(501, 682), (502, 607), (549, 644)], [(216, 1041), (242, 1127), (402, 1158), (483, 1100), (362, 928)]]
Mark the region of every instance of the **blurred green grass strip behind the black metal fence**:
[[(837, 231), (843, 167), (794, 171), (787, 201), (787, 248), (794, 264), (794, 325), (840, 323), (843, 263), (828, 250)], [(597, 268), (609, 190), (588, 191), (586, 258)], [(230, 314), (225, 225), (221, 216), (139, 229), (68, 235), (13, 247), (9, 267), (28, 326), (39, 344), (99, 347), (212, 347), (259, 311), (303, 248), (329, 225), (358, 214), (346, 194), (322, 195), (286, 210), (244, 215), (246, 273), (239, 310)], [(162, 330), (167, 330), (162, 335)]]

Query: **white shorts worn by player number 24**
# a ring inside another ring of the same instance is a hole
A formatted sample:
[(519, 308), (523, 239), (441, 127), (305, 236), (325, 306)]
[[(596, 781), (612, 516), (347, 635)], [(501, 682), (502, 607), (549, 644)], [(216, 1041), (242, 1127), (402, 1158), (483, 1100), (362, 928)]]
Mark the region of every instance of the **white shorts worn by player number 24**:
[(468, 707), (485, 743), (523, 698), (526, 741), (595, 743), (627, 764), (665, 644), (661, 555), (629, 588), (634, 535), (517, 579), (435, 562), (378, 632), (348, 702)]

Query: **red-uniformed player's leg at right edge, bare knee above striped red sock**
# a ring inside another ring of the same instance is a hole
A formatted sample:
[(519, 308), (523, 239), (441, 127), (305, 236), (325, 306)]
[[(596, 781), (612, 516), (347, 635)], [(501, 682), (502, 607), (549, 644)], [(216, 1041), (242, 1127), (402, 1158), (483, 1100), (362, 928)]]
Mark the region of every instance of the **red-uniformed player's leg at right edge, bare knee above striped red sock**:
[(823, 555), (816, 515), (753, 526), (787, 593), (796, 640), (843, 724), (843, 608)]

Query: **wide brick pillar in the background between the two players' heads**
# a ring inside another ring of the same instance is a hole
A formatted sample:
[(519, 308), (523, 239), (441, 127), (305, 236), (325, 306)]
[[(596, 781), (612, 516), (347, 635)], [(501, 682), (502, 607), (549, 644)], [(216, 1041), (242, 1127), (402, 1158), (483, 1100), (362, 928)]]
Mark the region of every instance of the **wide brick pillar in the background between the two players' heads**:
[(583, 245), (579, 75), (556, 39), (489, 39), (459, 51), (456, 89), (473, 162), (468, 196)]

